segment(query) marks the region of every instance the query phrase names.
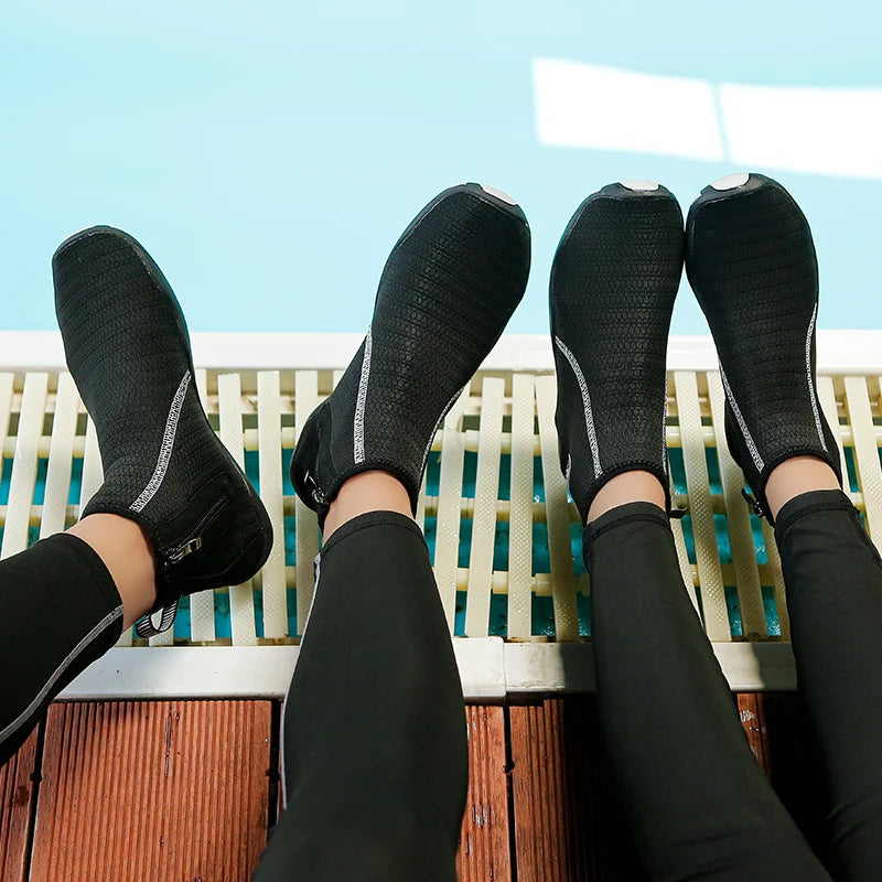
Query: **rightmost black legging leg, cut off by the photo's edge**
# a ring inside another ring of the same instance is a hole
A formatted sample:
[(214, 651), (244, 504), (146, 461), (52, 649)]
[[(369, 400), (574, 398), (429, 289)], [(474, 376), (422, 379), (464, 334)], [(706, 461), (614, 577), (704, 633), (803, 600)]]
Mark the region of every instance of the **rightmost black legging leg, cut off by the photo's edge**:
[(775, 536), (799, 690), (821, 757), (837, 878), (882, 879), (882, 563), (839, 491), (796, 496)]

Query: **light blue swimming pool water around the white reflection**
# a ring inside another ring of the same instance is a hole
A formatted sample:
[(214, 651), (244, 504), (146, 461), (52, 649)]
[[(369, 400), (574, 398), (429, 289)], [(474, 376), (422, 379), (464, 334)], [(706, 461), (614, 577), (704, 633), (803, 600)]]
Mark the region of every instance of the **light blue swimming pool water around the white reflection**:
[[(509, 330), (544, 332), (551, 256), (588, 193), (658, 180), (686, 211), (741, 166), (540, 142), (536, 58), (875, 100), (880, 25), (878, 3), (792, 0), (15, 4), (0, 13), (0, 325), (54, 327), (52, 251), (111, 224), (155, 257), (192, 330), (362, 331), (401, 229), (476, 180), (527, 213)], [(876, 130), (859, 135), (872, 152)], [(754, 168), (811, 222), (820, 325), (882, 327), (882, 175), (797, 160)], [(674, 331), (706, 332), (688, 289)]]

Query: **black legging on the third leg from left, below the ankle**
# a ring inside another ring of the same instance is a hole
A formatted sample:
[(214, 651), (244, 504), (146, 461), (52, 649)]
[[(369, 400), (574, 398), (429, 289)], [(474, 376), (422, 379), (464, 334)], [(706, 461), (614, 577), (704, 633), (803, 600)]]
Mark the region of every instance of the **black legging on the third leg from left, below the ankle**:
[(663, 510), (615, 507), (584, 545), (601, 724), (650, 876), (828, 879), (753, 759)]

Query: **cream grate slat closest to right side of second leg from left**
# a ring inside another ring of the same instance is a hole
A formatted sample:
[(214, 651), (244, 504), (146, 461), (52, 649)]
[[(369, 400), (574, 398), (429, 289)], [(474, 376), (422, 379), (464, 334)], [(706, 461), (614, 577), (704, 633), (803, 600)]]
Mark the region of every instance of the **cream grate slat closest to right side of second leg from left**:
[(460, 418), (469, 405), (469, 387), (444, 418), (441, 435), (441, 474), (438, 483), (438, 520), (434, 539), (434, 578), (451, 634), (456, 619), (456, 571), (460, 555), (460, 499), (462, 498), (465, 435)]

